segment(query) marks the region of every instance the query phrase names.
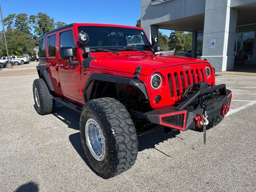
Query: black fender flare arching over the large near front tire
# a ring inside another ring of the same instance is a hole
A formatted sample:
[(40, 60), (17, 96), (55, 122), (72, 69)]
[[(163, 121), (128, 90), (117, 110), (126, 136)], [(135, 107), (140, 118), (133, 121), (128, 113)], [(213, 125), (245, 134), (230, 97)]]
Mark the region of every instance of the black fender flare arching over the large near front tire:
[(93, 73), (88, 78), (88, 80), (84, 86), (84, 89), (83, 89), (84, 102), (88, 102), (88, 98), (86, 97), (86, 90), (88, 89), (88, 87), (90, 86), (90, 84), (93, 80), (100, 80), (100, 81), (105, 81), (105, 82), (121, 83), (121, 84), (128, 84), (128, 85), (135, 86), (144, 95), (144, 98), (146, 100), (149, 99), (148, 92), (146, 90), (146, 86), (139, 79), (126, 78), (126, 77), (114, 76), (114, 75), (103, 74), (103, 73), (101, 73), (101, 74)]

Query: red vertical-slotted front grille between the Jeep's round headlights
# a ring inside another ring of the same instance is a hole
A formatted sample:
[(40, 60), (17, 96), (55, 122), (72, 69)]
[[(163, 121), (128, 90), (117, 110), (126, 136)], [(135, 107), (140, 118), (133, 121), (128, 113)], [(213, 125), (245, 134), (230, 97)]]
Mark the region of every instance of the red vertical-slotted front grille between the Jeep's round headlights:
[(205, 81), (203, 69), (186, 70), (181, 72), (173, 72), (168, 74), (168, 81), (170, 87), (170, 96), (178, 97), (191, 84)]

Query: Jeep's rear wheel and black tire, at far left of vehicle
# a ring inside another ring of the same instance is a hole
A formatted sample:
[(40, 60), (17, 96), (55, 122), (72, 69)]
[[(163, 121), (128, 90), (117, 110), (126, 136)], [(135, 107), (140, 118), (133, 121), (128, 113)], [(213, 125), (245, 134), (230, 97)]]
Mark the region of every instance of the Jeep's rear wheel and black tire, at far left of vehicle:
[(33, 95), (36, 112), (40, 115), (51, 114), (54, 111), (55, 102), (53, 96), (43, 79), (36, 79), (33, 83)]

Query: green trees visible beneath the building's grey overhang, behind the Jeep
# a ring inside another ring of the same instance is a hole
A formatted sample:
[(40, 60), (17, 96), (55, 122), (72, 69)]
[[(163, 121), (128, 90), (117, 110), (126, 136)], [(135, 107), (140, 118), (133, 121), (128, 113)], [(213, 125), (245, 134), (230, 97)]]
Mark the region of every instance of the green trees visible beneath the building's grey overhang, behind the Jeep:
[[(136, 27), (141, 27), (141, 19), (137, 20)], [(172, 30), (169, 37), (158, 31), (158, 44), (161, 50), (174, 50), (176, 53), (187, 52), (192, 49), (192, 33)]]

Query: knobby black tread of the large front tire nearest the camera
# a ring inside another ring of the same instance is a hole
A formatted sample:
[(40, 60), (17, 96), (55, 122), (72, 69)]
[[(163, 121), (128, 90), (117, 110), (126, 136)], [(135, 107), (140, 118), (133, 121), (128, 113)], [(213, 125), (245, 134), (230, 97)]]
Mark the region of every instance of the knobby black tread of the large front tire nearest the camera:
[[(105, 173), (98, 172), (98, 174), (107, 179), (130, 169), (137, 158), (138, 138), (134, 123), (124, 105), (114, 98), (99, 98), (87, 102), (83, 111), (86, 108), (95, 114), (100, 114), (106, 137), (109, 140), (110, 168)], [(85, 118), (84, 115), (82, 112), (81, 119)], [(84, 128), (83, 126), (80, 123), (80, 130)], [(91, 163), (90, 158), (88, 160)]]

